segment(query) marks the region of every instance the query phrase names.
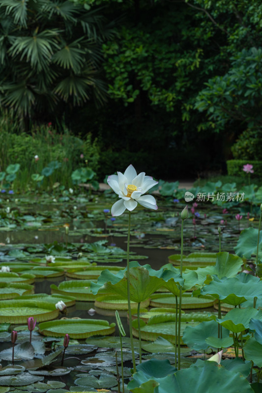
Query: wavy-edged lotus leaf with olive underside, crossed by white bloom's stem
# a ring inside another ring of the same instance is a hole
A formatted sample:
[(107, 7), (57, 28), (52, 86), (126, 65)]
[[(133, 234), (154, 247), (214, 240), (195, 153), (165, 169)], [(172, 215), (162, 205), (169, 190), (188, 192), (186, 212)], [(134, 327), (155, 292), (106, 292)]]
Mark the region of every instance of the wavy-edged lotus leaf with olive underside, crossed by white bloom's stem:
[[(183, 279), (177, 272), (161, 268), (156, 271), (150, 265), (141, 266), (137, 261), (130, 262), (130, 299), (133, 302), (141, 303), (146, 300), (158, 288), (166, 284), (168, 280), (183, 283)], [(126, 269), (112, 274), (109, 270), (104, 270), (97, 280), (91, 283), (91, 291), (97, 293), (117, 293), (127, 299), (127, 277)]]

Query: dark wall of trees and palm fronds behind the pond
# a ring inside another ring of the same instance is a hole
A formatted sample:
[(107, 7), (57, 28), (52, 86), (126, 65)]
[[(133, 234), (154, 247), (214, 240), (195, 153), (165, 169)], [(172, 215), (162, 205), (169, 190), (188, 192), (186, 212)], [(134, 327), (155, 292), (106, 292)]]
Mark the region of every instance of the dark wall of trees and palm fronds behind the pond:
[(259, 0), (0, 0), (0, 103), (90, 132), (100, 178), (225, 170), (260, 134), (261, 16)]

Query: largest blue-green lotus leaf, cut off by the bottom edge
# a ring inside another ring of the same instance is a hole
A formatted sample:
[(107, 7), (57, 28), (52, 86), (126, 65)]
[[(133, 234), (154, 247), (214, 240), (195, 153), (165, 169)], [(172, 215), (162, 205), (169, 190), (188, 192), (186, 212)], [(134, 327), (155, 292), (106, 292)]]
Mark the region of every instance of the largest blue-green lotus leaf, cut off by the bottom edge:
[(154, 390), (145, 390), (142, 385), (148, 380), (159, 383), (158, 393), (214, 393), (218, 389), (227, 393), (252, 393), (250, 384), (244, 377), (208, 361), (204, 362), (204, 367), (192, 366), (164, 378), (148, 378), (143, 371), (139, 371), (133, 375), (133, 380), (127, 387), (133, 393), (153, 393)]

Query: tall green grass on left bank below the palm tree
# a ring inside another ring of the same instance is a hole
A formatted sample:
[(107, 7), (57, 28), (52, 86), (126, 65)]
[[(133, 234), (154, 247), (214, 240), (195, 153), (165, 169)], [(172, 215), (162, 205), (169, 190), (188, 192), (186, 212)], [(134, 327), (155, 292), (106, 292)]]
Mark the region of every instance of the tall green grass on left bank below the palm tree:
[[(72, 187), (73, 170), (89, 166), (94, 171), (99, 159), (96, 140), (92, 142), (90, 134), (80, 139), (67, 129), (64, 124), (58, 132), (51, 123), (33, 125), (30, 132), (20, 131), (19, 122), (12, 113), (0, 115), (0, 171), (5, 171), (9, 164), (20, 164), (12, 188), (19, 192), (32, 189), (51, 191), (56, 186)], [(36, 161), (34, 156), (39, 160)], [(83, 157), (83, 158), (81, 158)], [(51, 176), (41, 182), (32, 180), (31, 175), (38, 173), (57, 161), (60, 165)], [(59, 185), (58, 185), (59, 183)]]

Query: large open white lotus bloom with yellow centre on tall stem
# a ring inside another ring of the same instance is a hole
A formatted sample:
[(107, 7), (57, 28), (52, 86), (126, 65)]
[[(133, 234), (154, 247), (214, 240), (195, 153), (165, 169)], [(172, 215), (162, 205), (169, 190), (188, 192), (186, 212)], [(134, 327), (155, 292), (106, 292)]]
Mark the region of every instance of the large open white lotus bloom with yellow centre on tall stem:
[(143, 194), (158, 182), (151, 176), (145, 176), (145, 172), (137, 174), (133, 165), (129, 165), (124, 174), (117, 172), (117, 175), (108, 176), (107, 182), (121, 198), (112, 206), (112, 216), (120, 216), (125, 209), (134, 210), (137, 202), (144, 207), (157, 210), (155, 198)]

